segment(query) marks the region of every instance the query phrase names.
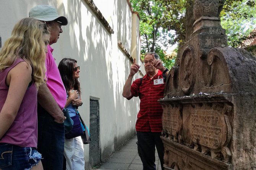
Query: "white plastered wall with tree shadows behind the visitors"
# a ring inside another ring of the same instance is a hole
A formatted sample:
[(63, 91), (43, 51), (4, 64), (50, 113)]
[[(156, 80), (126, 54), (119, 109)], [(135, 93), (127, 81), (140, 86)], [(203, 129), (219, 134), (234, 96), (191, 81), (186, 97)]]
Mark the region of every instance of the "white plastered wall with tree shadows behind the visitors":
[[(123, 85), (132, 63), (118, 47), (118, 40), (121, 40), (128, 53), (142, 66), (143, 74), (145, 71), (139, 60), (139, 18), (132, 13), (127, 0), (94, 0), (94, 3), (114, 34), (105, 29), (83, 0), (1, 0), (0, 37), (3, 46), (16, 22), (28, 17), (29, 10), (36, 5), (55, 6), (60, 15), (66, 16), (68, 25), (62, 26), (63, 33), (58, 42), (52, 45), (53, 56), (57, 65), (65, 57), (78, 61), (84, 103), (79, 112), (88, 128), (90, 97), (99, 98), (99, 136), (104, 159), (135, 133), (136, 115), (139, 111), (138, 98), (128, 101), (122, 96)], [(132, 25), (136, 27), (133, 29), (137, 30), (136, 35), (131, 35)], [(132, 38), (133, 46), (136, 45), (133, 52)], [(134, 80), (139, 77), (141, 75), (137, 73)], [(89, 166), (89, 145), (84, 145), (84, 155), (86, 166)]]

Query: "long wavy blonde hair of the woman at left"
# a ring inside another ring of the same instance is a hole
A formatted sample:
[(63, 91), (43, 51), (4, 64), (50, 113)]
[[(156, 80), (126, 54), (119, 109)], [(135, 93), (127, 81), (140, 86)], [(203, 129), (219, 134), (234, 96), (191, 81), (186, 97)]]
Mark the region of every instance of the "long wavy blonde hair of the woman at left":
[(36, 86), (45, 83), (44, 34), (49, 34), (44, 22), (33, 18), (18, 21), (0, 51), (0, 71), (10, 67), (17, 58), (22, 58), (31, 65), (32, 80)]

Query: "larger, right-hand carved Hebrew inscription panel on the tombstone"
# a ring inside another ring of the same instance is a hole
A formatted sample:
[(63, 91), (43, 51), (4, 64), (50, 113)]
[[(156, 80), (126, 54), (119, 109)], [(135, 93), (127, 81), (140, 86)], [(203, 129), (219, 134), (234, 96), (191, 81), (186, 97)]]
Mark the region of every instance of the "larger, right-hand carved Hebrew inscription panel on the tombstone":
[(193, 104), (190, 111), (189, 128), (191, 130), (191, 142), (194, 150), (203, 154), (210, 154), (212, 158), (230, 162), (231, 155), (222, 154), (222, 148), (226, 147), (232, 136), (231, 125), (227, 113), (232, 110), (230, 106), (222, 103), (198, 103)]

